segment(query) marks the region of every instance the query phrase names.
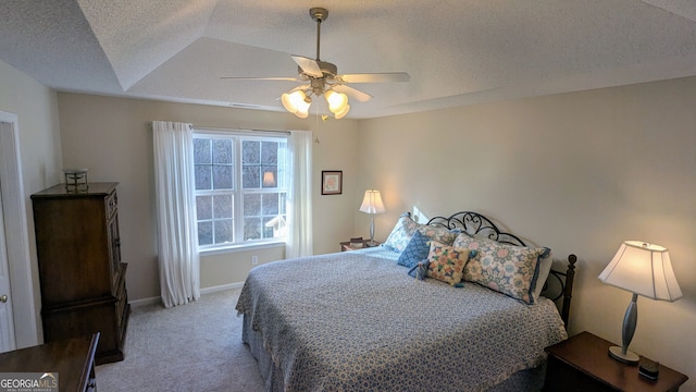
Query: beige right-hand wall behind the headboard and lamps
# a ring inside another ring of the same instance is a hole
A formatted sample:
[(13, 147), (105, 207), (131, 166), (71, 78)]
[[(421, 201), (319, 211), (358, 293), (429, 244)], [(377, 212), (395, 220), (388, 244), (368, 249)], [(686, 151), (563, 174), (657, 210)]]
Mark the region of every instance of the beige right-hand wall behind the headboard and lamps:
[(417, 206), (480, 211), (556, 256), (577, 254), (571, 333), (614, 342), (631, 294), (597, 275), (624, 240), (668, 247), (684, 298), (638, 299), (631, 347), (696, 391), (694, 102), (696, 77), (364, 120), (358, 187), (382, 191), (382, 240)]

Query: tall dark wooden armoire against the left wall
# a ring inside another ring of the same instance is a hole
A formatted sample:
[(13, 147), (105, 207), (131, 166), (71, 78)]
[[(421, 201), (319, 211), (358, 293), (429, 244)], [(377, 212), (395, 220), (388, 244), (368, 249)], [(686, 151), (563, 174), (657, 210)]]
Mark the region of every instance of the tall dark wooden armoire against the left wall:
[(32, 195), (44, 340), (100, 332), (97, 365), (123, 359), (130, 305), (121, 261), (117, 183)]

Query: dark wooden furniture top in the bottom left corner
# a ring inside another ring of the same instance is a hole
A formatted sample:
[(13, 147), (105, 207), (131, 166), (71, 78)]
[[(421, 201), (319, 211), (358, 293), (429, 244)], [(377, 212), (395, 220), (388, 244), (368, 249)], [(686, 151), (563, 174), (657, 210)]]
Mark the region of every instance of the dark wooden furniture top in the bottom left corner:
[(0, 372), (54, 372), (61, 392), (96, 391), (99, 332), (0, 354)]

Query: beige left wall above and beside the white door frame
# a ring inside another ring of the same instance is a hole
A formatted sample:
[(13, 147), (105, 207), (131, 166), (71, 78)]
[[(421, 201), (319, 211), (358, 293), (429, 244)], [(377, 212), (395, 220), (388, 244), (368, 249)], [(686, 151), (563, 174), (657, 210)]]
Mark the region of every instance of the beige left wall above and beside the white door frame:
[[(40, 321), (41, 297), (34, 238), (34, 215), (29, 195), (58, 182), (61, 176), (60, 127), (55, 91), (0, 61), (0, 110), (17, 115), (22, 185), (26, 196), (29, 257), (34, 281), (34, 311), (36, 320)], [(10, 262), (17, 261), (10, 260)], [(28, 328), (28, 326), (16, 327)], [(37, 332), (37, 340), (41, 341), (40, 324)]]

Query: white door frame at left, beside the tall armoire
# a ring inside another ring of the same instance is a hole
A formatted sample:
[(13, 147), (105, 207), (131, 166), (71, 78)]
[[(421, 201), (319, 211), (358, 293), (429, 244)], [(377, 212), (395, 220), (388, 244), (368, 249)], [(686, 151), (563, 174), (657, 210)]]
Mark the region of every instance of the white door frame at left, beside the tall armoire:
[(0, 192), (5, 222), (14, 336), (17, 348), (38, 344), (28, 216), (22, 182), (17, 115), (0, 111)]

